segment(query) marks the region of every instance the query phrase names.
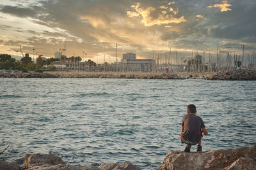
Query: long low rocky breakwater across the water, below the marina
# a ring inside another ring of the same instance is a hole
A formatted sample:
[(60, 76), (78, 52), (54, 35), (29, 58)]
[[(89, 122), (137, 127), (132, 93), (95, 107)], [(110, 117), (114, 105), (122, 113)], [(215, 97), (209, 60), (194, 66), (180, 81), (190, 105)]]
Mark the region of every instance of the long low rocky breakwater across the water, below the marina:
[(0, 73), (0, 78), (124, 78), (124, 79), (161, 79), (186, 80), (256, 80), (256, 71), (234, 70), (218, 73), (116, 73), (116, 72), (75, 72), (52, 71), (44, 73)]

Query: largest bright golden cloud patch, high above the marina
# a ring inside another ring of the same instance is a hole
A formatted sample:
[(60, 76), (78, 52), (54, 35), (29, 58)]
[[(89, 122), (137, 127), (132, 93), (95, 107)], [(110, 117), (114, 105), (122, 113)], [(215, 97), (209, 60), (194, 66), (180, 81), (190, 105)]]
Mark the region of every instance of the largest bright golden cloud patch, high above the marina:
[[(168, 5), (171, 4), (173, 3), (169, 3)], [(180, 22), (187, 21), (184, 16), (180, 18), (173, 17), (173, 15), (177, 15), (179, 10), (173, 10), (173, 8), (170, 6), (159, 6), (159, 8), (150, 6), (148, 8), (143, 8), (141, 7), (140, 3), (136, 3), (132, 5), (131, 8), (133, 8), (135, 11), (127, 11), (128, 17), (140, 18), (141, 23), (146, 27), (162, 24), (179, 24)]]

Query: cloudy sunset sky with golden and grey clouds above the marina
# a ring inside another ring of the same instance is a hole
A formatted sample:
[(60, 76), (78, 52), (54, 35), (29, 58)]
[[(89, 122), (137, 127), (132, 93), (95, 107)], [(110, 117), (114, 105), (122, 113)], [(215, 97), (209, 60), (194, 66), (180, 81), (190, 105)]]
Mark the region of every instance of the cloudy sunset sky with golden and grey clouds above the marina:
[[(0, 53), (113, 62), (178, 53), (256, 52), (255, 0), (1, 0)], [(64, 53), (64, 52), (63, 52)], [(104, 57), (105, 56), (105, 57)], [(110, 59), (110, 60), (109, 60)]]

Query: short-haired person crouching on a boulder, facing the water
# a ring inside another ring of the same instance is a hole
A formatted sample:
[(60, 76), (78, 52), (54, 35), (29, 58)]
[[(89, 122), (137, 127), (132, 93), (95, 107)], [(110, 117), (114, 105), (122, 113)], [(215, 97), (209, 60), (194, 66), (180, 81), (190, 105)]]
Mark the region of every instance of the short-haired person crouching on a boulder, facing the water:
[(196, 106), (189, 104), (187, 107), (187, 113), (182, 118), (182, 127), (180, 139), (181, 143), (186, 143), (185, 152), (190, 152), (191, 145), (197, 145), (196, 152), (202, 152), (201, 138), (202, 132), (206, 136), (208, 132), (205, 129), (204, 121), (202, 118), (196, 116)]

